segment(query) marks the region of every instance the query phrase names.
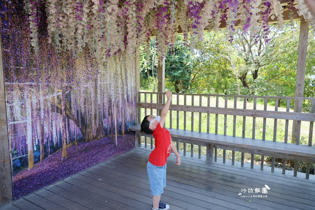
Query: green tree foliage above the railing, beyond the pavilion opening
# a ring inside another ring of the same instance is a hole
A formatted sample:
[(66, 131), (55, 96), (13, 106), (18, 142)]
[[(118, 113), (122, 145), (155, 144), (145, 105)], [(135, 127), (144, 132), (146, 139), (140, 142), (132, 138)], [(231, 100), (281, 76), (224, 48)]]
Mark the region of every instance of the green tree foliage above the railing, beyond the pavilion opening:
[[(225, 31), (205, 33), (194, 52), (178, 36), (166, 57), (166, 88), (205, 94), (294, 96), (300, 23), (285, 23), (281, 30), (271, 27), (269, 43), (263, 34), (255, 40), (237, 33), (230, 43)], [(158, 58), (154, 47), (152, 39), (149, 59), (140, 54), (141, 88), (146, 90), (157, 85)], [(304, 97), (315, 97), (314, 94), (315, 33), (310, 30)]]

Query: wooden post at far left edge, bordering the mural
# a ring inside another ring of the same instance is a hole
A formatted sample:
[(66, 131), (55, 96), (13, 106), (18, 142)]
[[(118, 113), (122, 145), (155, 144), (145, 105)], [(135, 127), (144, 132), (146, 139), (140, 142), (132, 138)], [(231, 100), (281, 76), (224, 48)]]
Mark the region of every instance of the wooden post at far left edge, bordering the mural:
[(12, 202), (12, 162), (5, 107), (5, 89), (0, 38), (0, 208)]

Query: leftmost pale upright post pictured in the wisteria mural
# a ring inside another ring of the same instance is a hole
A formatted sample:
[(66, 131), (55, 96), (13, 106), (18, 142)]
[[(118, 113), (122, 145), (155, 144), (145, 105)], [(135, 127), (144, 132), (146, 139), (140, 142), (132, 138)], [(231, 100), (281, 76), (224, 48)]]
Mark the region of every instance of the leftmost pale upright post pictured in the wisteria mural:
[(29, 159), (29, 169), (34, 166), (34, 146), (33, 146), (33, 133), (32, 133), (32, 99), (29, 98), (27, 105), (27, 150)]

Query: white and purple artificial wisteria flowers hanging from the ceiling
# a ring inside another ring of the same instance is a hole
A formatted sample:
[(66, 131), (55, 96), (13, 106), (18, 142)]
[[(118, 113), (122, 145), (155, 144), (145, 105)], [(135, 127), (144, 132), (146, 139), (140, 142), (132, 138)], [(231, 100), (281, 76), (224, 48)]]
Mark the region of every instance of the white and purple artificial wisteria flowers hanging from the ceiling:
[[(290, 11), (296, 8), (300, 16), (314, 23), (304, 1), (296, 2), (294, 5), (289, 0)], [(35, 51), (38, 50), (38, 7), (35, 6), (38, 3), (25, 0)], [(262, 26), (268, 40), (268, 19), (277, 18), (280, 27), (283, 23), (280, 0), (47, 0), (45, 6), (49, 41), (55, 46), (62, 44), (74, 55), (88, 46), (99, 61), (120, 51), (131, 55), (140, 43), (148, 44), (151, 35), (157, 37), (159, 54), (163, 57), (174, 44), (179, 26), (186, 42), (188, 32), (191, 33), (193, 44), (202, 39), (206, 28), (218, 30), (222, 23), (230, 41), (236, 24), (243, 25), (244, 33), (249, 32), (253, 37)]]

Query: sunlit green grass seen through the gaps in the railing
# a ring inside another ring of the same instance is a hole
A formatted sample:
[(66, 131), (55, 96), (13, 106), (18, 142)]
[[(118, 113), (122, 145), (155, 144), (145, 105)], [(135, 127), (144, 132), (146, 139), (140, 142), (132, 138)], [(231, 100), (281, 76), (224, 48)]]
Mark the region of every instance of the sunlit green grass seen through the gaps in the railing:
[[(146, 102), (150, 103), (150, 95), (146, 94)], [(177, 96), (173, 95), (172, 104), (176, 104)], [(180, 96), (179, 99), (179, 105), (184, 104), (184, 97)], [(202, 106), (208, 106), (207, 97), (202, 97)], [(144, 94), (141, 95), (141, 102), (144, 102)], [(153, 95), (152, 97), (152, 103), (156, 103), (156, 95)], [(267, 110), (275, 110), (275, 102), (269, 100), (267, 105)], [(186, 98), (186, 105), (192, 105), (192, 97), (187, 96)], [(194, 105), (200, 105), (200, 97), (195, 96), (194, 97)], [(219, 97), (218, 101), (218, 107), (224, 107), (225, 102), (223, 97)], [(237, 108), (243, 108), (244, 101), (237, 101)], [(215, 107), (215, 97), (210, 97), (210, 107)], [(227, 102), (228, 108), (234, 107), (234, 100), (228, 100)], [(246, 102), (246, 109), (253, 109), (253, 102), (247, 101)], [(264, 105), (259, 103), (257, 101), (256, 105), (257, 110), (263, 110)], [(285, 107), (278, 107), (279, 111), (286, 111)], [(290, 109), (290, 112), (293, 112), (293, 109)], [(151, 110), (147, 109), (146, 114), (151, 114)], [(152, 110), (152, 114), (156, 115), (156, 110)], [(145, 116), (145, 110), (144, 108), (141, 109), (141, 119)], [(177, 125), (177, 111), (172, 111), (172, 128), (179, 128), (184, 129), (184, 112), (179, 111), (178, 112), (179, 117), (179, 124)], [(201, 123), (201, 132), (207, 132), (207, 128), (209, 126), (209, 132), (215, 133), (215, 114), (210, 114), (210, 124), (207, 125), (207, 113), (201, 113), (201, 122), (199, 122), (200, 113), (195, 112), (193, 113), (193, 130), (199, 131), (199, 123)], [(165, 127), (170, 128), (170, 111), (168, 113), (168, 116), (166, 118), (166, 124)], [(192, 130), (192, 113), (186, 112), (186, 130)], [(273, 140), (274, 138), (274, 119), (267, 119), (266, 120), (266, 140)], [(289, 120), (289, 129), (288, 129), (288, 142), (291, 142), (292, 139), (292, 124), (293, 120)], [(245, 118), (245, 138), (252, 138), (252, 131), (253, 131), (253, 117), (246, 117)], [(309, 141), (309, 131), (310, 131), (310, 122), (301, 122), (301, 137), (300, 137), (300, 144), (308, 144)], [(227, 128), (226, 132), (228, 136), (233, 136), (233, 115), (227, 115)], [(236, 136), (242, 137), (243, 133), (243, 116), (237, 116), (236, 117)], [(285, 120), (278, 119), (277, 121), (277, 130), (276, 130), (276, 140), (284, 142), (284, 135), (285, 135)], [(219, 114), (218, 115), (218, 134), (224, 134), (224, 115)], [(255, 139), (262, 139), (263, 136), (263, 118), (256, 118), (256, 126), (255, 126)], [(313, 137), (315, 136), (315, 129), (313, 129)], [(148, 139), (148, 144), (150, 144), (150, 138)], [(144, 143), (144, 137), (142, 137), (142, 142)], [(153, 140), (154, 145), (154, 140)], [(313, 138), (312, 145), (315, 145), (315, 140)], [(179, 149), (183, 149), (183, 144), (179, 143)], [(187, 153), (190, 153), (190, 144), (186, 145), (186, 151)], [(202, 154), (206, 154), (206, 147), (202, 146)], [(194, 153), (198, 153), (198, 146), (194, 146)], [(218, 149), (217, 157), (222, 157), (222, 150)], [(226, 158), (232, 159), (232, 151), (226, 151)], [(250, 161), (250, 154), (245, 153), (245, 159), (247, 161)], [(256, 161), (260, 161), (261, 156), (255, 155), (254, 158)], [(241, 160), (241, 152), (235, 152), (235, 160), (240, 161)], [(245, 161), (246, 161), (245, 160)], [(269, 160), (268, 157), (265, 157), (265, 160)]]

